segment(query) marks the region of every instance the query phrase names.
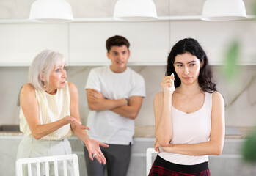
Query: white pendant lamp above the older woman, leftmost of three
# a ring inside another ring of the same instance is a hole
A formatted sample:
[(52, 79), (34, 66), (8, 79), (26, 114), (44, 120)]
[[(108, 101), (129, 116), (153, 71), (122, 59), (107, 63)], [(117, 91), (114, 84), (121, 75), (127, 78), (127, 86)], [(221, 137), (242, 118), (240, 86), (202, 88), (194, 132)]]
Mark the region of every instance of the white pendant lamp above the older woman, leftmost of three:
[(73, 21), (73, 12), (65, 0), (36, 0), (31, 6), (29, 21), (68, 23)]

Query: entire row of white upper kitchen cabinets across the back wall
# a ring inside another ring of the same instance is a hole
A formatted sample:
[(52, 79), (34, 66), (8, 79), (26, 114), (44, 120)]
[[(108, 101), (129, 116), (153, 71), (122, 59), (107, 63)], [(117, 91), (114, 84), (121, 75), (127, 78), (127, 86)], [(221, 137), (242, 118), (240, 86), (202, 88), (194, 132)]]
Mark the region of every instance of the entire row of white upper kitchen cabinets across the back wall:
[(184, 37), (200, 42), (210, 65), (223, 65), (227, 46), (238, 40), (239, 64), (256, 65), (255, 21), (200, 21), (186, 17), (150, 22), (92, 18), (60, 24), (0, 20), (0, 66), (29, 66), (34, 56), (46, 48), (65, 54), (67, 65), (109, 65), (106, 39), (115, 34), (127, 37), (131, 43), (128, 65), (166, 65), (172, 45)]

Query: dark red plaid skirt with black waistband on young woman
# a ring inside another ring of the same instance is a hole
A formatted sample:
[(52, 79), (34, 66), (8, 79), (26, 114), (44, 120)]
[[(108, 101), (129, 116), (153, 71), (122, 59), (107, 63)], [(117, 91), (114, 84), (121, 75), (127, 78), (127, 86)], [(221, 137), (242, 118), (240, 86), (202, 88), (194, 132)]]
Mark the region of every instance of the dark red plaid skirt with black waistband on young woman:
[(180, 165), (156, 156), (148, 176), (210, 176), (208, 162), (195, 165)]

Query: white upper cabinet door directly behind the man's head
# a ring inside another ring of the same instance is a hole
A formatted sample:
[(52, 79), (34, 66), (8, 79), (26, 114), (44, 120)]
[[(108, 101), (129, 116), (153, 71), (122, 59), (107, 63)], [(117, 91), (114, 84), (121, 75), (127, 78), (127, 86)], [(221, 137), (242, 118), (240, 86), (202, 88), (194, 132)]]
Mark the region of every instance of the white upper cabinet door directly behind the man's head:
[(106, 40), (122, 35), (131, 43), (132, 65), (166, 63), (169, 52), (168, 22), (70, 23), (70, 65), (105, 65)]

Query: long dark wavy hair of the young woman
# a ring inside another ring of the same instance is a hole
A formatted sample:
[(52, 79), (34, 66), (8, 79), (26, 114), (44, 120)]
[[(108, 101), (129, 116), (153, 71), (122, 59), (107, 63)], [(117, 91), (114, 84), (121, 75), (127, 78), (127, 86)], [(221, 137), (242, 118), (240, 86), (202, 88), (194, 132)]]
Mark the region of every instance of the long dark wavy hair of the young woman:
[(196, 56), (197, 59), (202, 62), (204, 60), (204, 65), (200, 68), (200, 74), (198, 76), (198, 84), (201, 87), (201, 90), (204, 92), (212, 93), (216, 91), (216, 83), (211, 81), (212, 73), (211, 68), (208, 65), (208, 58), (203, 51), (201, 45), (197, 42), (197, 40), (193, 38), (185, 38), (183, 40), (178, 41), (173, 47), (168, 56), (167, 60), (167, 71), (165, 76), (170, 76), (172, 73), (175, 74), (175, 87), (179, 87), (181, 84), (180, 78), (175, 72), (174, 62), (175, 56), (178, 54), (190, 53), (193, 56)]

